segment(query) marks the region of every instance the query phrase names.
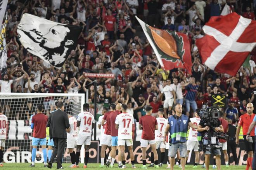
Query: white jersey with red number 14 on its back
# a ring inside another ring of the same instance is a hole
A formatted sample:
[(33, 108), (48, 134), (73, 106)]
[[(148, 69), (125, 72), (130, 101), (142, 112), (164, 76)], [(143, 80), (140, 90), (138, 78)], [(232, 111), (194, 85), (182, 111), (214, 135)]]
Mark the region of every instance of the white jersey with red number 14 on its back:
[(81, 112), (77, 117), (80, 123), (79, 135), (92, 136), (92, 123), (94, 123), (94, 117), (90, 112)]

